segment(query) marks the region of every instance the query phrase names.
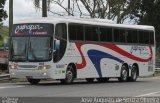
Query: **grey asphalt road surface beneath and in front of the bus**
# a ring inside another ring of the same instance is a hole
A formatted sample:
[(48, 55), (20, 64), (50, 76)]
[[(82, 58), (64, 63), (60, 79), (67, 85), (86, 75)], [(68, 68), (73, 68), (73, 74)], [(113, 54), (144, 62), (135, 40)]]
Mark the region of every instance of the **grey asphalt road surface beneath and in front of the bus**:
[(160, 97), (160, 78), (138, 78), (137, 82), (87, 83), (76, 80), (71, 85), (57, 81), (39, 85), (0, 83), (0, 97)]

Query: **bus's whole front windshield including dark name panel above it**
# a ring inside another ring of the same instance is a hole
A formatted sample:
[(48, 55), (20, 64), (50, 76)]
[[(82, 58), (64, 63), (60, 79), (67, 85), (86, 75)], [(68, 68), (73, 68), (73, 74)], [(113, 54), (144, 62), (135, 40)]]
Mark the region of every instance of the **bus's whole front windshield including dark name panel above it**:
[(11, 61), (49, 61), (52, 55), (52, 24), (16, 24), (11, 35)]

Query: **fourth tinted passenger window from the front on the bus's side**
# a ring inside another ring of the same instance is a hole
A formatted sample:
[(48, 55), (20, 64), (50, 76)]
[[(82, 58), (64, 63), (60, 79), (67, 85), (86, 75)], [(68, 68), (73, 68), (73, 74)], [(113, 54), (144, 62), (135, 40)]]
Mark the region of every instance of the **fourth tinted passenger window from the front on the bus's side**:
[(124, 29), (114, 29), (114, 41), (125, 43), (125, 30)]

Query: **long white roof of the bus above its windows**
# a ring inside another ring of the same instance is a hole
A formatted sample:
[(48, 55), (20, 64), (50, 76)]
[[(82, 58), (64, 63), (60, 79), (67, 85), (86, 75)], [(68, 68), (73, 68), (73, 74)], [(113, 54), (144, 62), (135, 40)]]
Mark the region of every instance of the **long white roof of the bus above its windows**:
[(114, 24), (112, 21), (106, 19), (85, 19), (85, 18), (75, 18), (75, 17), (47, 17), (38, 19), (29, 19), (19, 21), (15, 24), (22, 23), (77, 23), (77, 24), (88, 24), (88, 25), (100, 25), (108, 27), (117, 28), (127, 28), (127, 29), (140, 29), (140, 30), (155, 30), (153, 26), (148, 25), (126, 25), (126, 24)]

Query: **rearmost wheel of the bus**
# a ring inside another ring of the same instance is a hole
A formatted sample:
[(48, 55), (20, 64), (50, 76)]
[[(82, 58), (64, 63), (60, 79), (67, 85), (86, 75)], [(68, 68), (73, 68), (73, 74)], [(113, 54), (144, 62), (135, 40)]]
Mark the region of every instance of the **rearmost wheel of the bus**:
[(129, 81), (131, 82), (135, 82), (137, 80), (137, 77), (138, 77), (138, 68), (133, 65), (132, 66), (132, 70), (131, 70), (131, 77), (129, 78)]

